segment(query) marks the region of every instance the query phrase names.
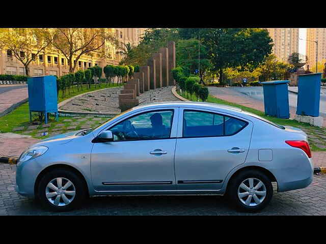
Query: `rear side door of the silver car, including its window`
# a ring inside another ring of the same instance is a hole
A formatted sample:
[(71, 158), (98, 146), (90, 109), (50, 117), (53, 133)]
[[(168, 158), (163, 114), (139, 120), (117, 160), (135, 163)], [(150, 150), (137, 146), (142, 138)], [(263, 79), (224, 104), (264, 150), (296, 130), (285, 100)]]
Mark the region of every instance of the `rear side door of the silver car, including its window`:
[(209, 110), (180, 108), (175, 174), (178, 190), (218, 190), (244, 163), (252, 123)]

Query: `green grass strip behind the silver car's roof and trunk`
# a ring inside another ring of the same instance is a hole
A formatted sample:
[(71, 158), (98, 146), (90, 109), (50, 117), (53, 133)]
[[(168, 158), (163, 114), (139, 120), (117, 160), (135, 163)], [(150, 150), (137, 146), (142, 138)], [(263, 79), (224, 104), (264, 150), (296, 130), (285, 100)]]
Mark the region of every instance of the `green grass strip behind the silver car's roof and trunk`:
[[(188, 100), (191, 100), (191, 101), (194, 101), (194, 102), (197, 101), (197, 98), (196, 98), (196, 96), (194, 94), (192, 95), (192, 97), (190, 97), (190, 95), (188, 94), (188, 98), (187, 98), (187, 95), (181, 95), (181, 94), (179, 94), (179, 95), (186, 98), (186, 99), (188, 99)], [(263, 118), (266, 118), (266, 119), (268, 119), (268, 120), (270, 120), (270, 121), (272, 121), (272, 122), (274, 122), (276, 124), (283, 125), (283, 126), (292, 126), (292, 127), (300, 128), (300, 129), (304, 130), (307, 133), (307, 135), (309, 137), (308, 141), (309, 141), (311, 150), (313, 150), (313, 151), (326, 150), (326, 139), (322, 138), (322, 137), (324, 137), (326, 135), (326, 128), (314, 127), (314, 126), (309, 125), (308, 123), (300, 123), (300, 122), (298, 122), (296, 120), (293, 120), (293, 119), (284, 119), (284, 118), (277, 118), (277, 117), (267, 116), (267, 115), (265, 115), (264, 112), (262, 112), (260, 110), (249, 108), (249, 107), (239, 105), (239, 104), (236, 104), (236, 103), (231, 103), (231, 102), (219, 99), (219, 98), (215, 98), (215, 97), (213, 97), (211, 95), (208, 96), (208, 99), (207, 99), (206, 102), (219, 103), (219, 104), (223, 104), (223, 105), (229, 105), (229, 106), (241, 108), (244, 111), (248, 111), (248, 112), (257, 114), (257, 115), (259, 115), (259, 116), (261, 116)], [(313, 137), (313, 138), (311, 138), (311, 137)]]

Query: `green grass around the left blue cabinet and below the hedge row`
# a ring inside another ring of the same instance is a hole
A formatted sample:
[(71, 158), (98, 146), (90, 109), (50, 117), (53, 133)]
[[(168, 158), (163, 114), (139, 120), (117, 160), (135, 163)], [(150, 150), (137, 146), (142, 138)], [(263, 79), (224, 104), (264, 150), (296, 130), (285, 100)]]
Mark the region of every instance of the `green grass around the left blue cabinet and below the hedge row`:
[[(117, 84), (113, 84), (111, 86), (109, 85), (107, 87), (115, 87), (115, 86), (117, 86)], [(68, 92), (66, 92), (66, 96), (64, 98), (62, 98), (62, 92), (60, 90), (59, 91), (58, 103), (66, 100), (68, 98), (74, 97), (76, 95), (87, 93), (87, 92), (92, 92), (94, 90), (103, 89), (103, 88), (106, 88), (106, 84), (102, 84), (101, 87), (96, 86), (96, 88), (94, 88), (94, 85), (92, 85), (90, 89), (86, 89), (86, 85), (83, 85), (83, 90), (79, 90), (79, 92), (78, 92), (77, 91), (77, 86), (74, 86), (74, 91), (71, 90), (70, 94)], [(31, 126), (30, 112), (29, 111), (30, 111), (29, 110), (29, 103), (26, 102), (26, 103), (20, 105), (19, 107), (17, 107), (15, 110), (10, 112), (9, 114), (6, 114), (5, 116), (0, 117), (0, 133), (13, 132), (12, 130), (14, 128), (16, 128), (16, 127), (24, 127), (24, 129), (22, 131), (15, 131), (14, 133), (26, 134), (25, 132), (26, 132), (26, 130), (28, 130), (27, 129), (28, 126)], [(37, 113), (33, 113), (33, 114), (37, 114)], [(78, 116), (78, 115), (76, 115), (76, 116)], [(50, 127), (46, 128), (46, 129), (48, 129), (49, 132), (51, 132), (51, 129), (53, 129), (56, 125), (64, 124), (63, 129), (65, 131), (66, 128), (70, 127), (70, 123), (75, 122), (74, 119), (72, 119), (72, 121), (69, 121), (69, 122), (64, 122), (63, 120), (65, 120), (67, 118), (69, 118), (69, 117), (59, 117), (59, 120), (55, 121), (55, 118), (53, 116), (50, 116), (50, 119), (48, 121), (48, 123), (50, 124)], [(33, 117), (33, 121), (34, 120), (38, 120), (38, 116)], [(76, 127), (76, 130), (79, 129), (78, 127)], [(44, 129), (44, 128), (39, 128), (39, 129)], [(46, 138), (46, 137), (48, 137), (48, 136), (39, 136), (39, 134), (41, 134), (41, 132), (38, 133), (37, 131), (33, 131), (29, 135), (32, 135), (33, 137), (36, 137), (36, 138)]]

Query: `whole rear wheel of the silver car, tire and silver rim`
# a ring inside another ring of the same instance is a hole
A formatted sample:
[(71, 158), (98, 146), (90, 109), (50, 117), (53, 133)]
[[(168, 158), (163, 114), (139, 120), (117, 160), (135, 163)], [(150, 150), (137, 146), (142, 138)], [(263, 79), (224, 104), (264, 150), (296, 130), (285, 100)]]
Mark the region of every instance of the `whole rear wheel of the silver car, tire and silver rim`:
[(265, 208), (270, 202), (273, 186), (262, 172), (247, 170), (231, 180), (228, 195), (240, 210), (255, 212)]

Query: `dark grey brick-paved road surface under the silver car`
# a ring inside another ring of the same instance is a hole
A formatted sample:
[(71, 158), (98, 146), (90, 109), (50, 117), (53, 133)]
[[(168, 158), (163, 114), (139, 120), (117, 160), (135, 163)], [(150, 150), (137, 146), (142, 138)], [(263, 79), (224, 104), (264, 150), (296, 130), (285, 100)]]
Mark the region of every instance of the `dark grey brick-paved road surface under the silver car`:
[(92, 197), (77, 210), (49, 212), (38, 202), (15, 192), (16, 166), (0, 163), (0, 215), (326, 215), (326, 175), (289, 192), (276, 192), (261, 212), (238, 212), (222, 196)]

